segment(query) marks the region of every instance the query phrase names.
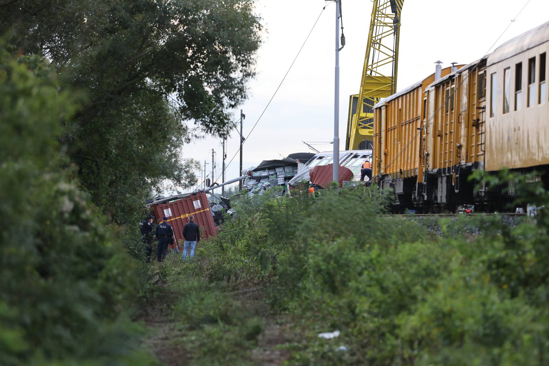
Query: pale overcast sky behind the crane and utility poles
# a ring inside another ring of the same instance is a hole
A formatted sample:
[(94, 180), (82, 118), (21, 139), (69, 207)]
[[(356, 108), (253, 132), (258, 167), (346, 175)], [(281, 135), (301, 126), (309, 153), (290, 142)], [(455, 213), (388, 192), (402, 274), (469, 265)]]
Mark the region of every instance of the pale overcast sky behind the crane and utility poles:
[[(427, 77), (450, 62), (468, 64), (479, 59), (528, 0), (405, 0), (401, 16), (397, 90)], [(335, 6), (323, 0), (260, 0), (257, 13), (266, 27), (257, 55), (257, 76), (240, 107), (246, 115), (244, 136), (257, 121), (275, 92), (301, 44), (328, 4), (292, 70), (243, 148), (243, 167), (294, 152), (310, 152), (301, 141), (332, 141), (334, 111)], [(358, 93), (372, 2), (343, 0), (346, 45), (340, 52), (340, 150), (345, 148), (349, 95)], [(549, 20), (549, 1), (530, 0), (497, 45)], [(493, 49), (492, 49), (493, 50)], [(234, 111), (239, 118), (240, 108)], [(315, 146), (332, 150), (332, 145)], [(216, 173), (221, 174), (221, 140), (204, 136), (183, 149), (211, 175), (211, 149), (216, 152)], [(227, 163), (238, 150), (238, 135), (228, 140)], [(239, 156), (226, 169), (226, 180), (238, 177)], [(200, 172), (197, 172), (200, 179)], [(221, 179), (219, 179), (221, 182)]]

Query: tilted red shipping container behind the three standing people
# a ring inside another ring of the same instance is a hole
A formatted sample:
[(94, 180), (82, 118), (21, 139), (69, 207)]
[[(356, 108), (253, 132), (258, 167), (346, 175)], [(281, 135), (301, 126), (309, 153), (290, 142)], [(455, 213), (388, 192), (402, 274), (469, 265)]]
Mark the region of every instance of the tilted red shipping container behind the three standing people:
[[(162, 198), (161, 201), (153, 202), (150, 208), (154, 210), (156, 219), (162, 220), (163, 216), (168, 218), (168, 224), (173, 227), (177, 241), (184, 240), (183, 226), (189, 222), (190, 215), (194, 215), (194, 222), (200, 227), (201, 239), (217, 235), (217, 227), (204, 191)], [(170, 248), (173, 246), (170, 245)]]

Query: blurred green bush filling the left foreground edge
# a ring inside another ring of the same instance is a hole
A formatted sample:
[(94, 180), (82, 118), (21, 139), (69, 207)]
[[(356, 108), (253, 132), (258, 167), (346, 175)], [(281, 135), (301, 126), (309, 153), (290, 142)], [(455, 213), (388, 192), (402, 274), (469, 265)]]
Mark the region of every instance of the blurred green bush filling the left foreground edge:
[(125, 311), (137, 262), (56, 139), (81, 99), (46, 61), (0, 49), (0, 364), (152, 364)]

